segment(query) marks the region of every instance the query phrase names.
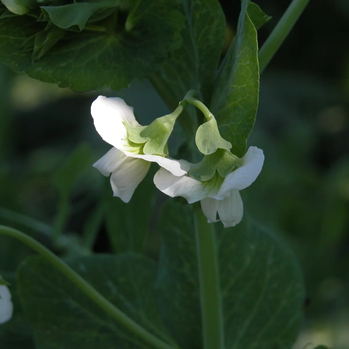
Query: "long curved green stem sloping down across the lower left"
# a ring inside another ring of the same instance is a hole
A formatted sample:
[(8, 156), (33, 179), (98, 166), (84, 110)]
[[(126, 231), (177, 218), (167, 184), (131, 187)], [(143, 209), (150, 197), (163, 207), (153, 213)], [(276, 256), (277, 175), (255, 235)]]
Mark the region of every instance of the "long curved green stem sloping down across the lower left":
[(93, 302), (99, 305), (106, 313), (116, 319), (119, 324), (126, 327), (129, 331), (136, 336), (143, 339), (156, 349), (173, 349), (172, 346), (158, 339), (156, 336), (148, 332), (142, 326), (138, 325), (135, 321), (129, 318), (125, 313), (120, 311), (109, 300), (102, 296), (96, 289), (94, 289), (88, 282), (86, 282), (79, 274), (77, 274), (72, 268), (70, 268), (64, 261), (58, 258), (45, 246), (37, 242), (32, 237), (22, 233), (13, 228), (0, 225), (0, 234), (11, 236), (17, 240), (22, 241), (24, 244), (31, 247), (36, 252), (45, 257), (52, 265), (63, 273), (67, 279), (75, 284), (86, 296), (88, 296)]

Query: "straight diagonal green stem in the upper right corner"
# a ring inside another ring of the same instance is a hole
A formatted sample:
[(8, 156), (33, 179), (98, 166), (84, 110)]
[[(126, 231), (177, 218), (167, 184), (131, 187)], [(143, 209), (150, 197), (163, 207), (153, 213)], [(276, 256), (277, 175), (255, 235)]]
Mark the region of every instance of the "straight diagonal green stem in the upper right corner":
[(271, 32), (266, 42), (258, 52), (259, 72), (262, 73), (270, 60), (274, 57), (275, 52), (279, 49), (299, 16), (302, 14), (310, 0), (293, 0)]

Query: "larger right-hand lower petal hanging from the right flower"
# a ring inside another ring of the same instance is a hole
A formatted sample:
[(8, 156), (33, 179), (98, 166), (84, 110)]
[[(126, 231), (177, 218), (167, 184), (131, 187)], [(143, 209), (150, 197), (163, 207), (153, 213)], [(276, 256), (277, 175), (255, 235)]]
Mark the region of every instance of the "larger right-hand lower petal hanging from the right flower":
[(227, 198), (218, 201), (218, 215), (224, 228), (235, 227), (244, 214), (244, 205), (237, 189), (232, 189)]

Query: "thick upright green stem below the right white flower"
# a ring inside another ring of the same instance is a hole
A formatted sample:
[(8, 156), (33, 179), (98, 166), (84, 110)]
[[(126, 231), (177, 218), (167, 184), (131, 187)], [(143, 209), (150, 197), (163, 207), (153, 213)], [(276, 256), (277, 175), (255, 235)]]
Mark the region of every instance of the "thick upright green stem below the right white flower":
[(200, 205), (195, 205), (195, 239), (200, 281), (203, 348), (223, 349), (223, 315), (214, 224), (207, 223)]

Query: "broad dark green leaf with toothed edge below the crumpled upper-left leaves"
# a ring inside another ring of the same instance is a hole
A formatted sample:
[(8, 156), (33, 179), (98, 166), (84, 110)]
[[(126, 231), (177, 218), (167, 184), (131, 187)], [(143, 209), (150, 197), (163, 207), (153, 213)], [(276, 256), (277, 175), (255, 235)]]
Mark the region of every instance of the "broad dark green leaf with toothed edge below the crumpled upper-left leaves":
[(123, 3), (129, 4), (127, 30), (122, 22), (117, 26), (109, 16), (98, 22), (98, 28), (67, 31), (64, 39), (35, 62), (31, 60), (30, 40), (46, 24), (29, 16), (2, 18), (0, 60), (15, 72), (77, 91), (127, 87), (132, 79), (159, 70), (179, 47), (184, 16), (177, 0)]

